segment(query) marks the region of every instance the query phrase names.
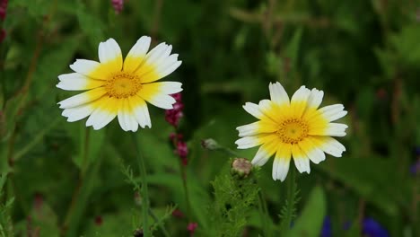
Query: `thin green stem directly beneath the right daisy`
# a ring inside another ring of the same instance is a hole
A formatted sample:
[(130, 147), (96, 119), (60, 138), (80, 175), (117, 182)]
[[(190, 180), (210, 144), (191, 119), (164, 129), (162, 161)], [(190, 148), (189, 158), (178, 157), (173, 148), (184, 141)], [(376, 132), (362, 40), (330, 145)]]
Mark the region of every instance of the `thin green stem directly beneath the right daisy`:
[(280, 236), (287, 236), (287, 233), (290, 230), (290, 225), (292, 224), (293, 219), (296, 189), (296, 171), (292, 168), (290, 171), (289, 179), (287, 180), (287, 198), (285, 203), (287, 208), (282, 223), (280, 224)]

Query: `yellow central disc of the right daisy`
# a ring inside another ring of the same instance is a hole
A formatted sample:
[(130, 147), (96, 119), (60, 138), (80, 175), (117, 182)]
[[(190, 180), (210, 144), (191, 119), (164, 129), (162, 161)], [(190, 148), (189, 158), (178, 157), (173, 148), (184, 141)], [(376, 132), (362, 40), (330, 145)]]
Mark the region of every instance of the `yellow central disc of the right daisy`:
[(308, 136), (308, 130), (308, 124), (301, 118), (289, 118), (279, 125), (276, 134), (286, 144), (297, 144)]

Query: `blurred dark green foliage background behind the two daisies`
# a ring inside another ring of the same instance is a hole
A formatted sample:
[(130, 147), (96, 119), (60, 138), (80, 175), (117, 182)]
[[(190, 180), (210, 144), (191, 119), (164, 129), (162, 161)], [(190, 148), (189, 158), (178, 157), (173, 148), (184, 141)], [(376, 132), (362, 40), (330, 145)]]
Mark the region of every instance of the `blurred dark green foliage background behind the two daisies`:
[[(293, 228), (321, 236), (328, 215), (332, 236), (373, 236), (363, 233), (365, 218), (389, 236), (420, 236), (419, 1), (127, 0), (116, 13), (103, 0), (11, 0), (0, 26), (5, 236), (133, 236), (140, 226), (141, 207), (122, 171), (130, 165), (139, 181), (129, 134), (116, 120), (99, 131), (84, 120), (67, 123), (57, 101), (76, 92), (55, 85), (75, 58), (97, 60), (99, 42), (114, 38), (127, 54), (142, 35), (172, 44), (183, 61), (163, 81), (183, 83), (178, 133), (188, 144), (189, 211), (164, 111), (149, 106), (153, 127), (137, 132), (152, 208), (171, 236), (188, 236), (188, 223), (198, 224), (195, 236), (214, 236), (223, 216), (213, 220), (211, 181), (232, 179), (232, 156), (203, 149), (201, 140), (235, 150), (235, 127), (254, 121), (241, 105), (267, 99), (276, 81), (289, 95), (302, 84), (316, 87), (325, 92), (322, 105), (349, 111), (347, 136), (338, 139), (343, 157), (328, 155), (310, 175), (297, 175)], [(257, 148), (237, 152), (250, 160)], [(272, 180), (271, 166), (257, 179), (268, 211), (257, 199), (242, 210), (244, 236), (278, 234), (286, 185)]]

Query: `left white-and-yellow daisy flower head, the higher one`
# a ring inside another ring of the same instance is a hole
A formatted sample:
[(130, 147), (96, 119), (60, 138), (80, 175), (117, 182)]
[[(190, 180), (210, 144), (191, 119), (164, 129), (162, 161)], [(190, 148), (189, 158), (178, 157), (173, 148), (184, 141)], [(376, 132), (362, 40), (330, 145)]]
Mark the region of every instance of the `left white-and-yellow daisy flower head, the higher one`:
[(181, 83), (159, 82), (181, 65), (178, 54), (165, 43), (149, 50), (151, 38), (143, 36), (123, 60), (114, 39), (99, 45), (99, 62), (76, 59), (71, 74), (58, 75), (57, 87), (66, 91), (86, 91), (58, 102), (62, 115), (74, 122), (89, 117), (86, 126), (101, 129), (118, 117), (121, 128), (136, 132), (152, 127), (146, 101), (169, 110), (176, 102), (170, 94), (181, 92)]

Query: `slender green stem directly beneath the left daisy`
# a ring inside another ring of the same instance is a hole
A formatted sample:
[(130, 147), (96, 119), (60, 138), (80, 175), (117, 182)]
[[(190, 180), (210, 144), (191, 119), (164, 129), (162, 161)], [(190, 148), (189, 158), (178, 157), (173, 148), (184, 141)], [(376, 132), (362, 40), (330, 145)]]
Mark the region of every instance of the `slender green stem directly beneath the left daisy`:
[(147, 174), (144, 167), (144, 160), (142, 159), (142, 155), (140, 153), (139, 143), (137, 141), (136, 133), (131, 134), (133, 138), (133, 143), (135, 144), (136, 154), (137, 154), (137, 162), (138, 162), (138, 169), (140, 171), (140, 176), (142, 179), (142, 212), (143, 212), (143, 233), (144, 237), (151, 236), (149, 233), (149, 225), (148, 225), (148, 213), (149, 210), (149, 194), (147, 191)]

